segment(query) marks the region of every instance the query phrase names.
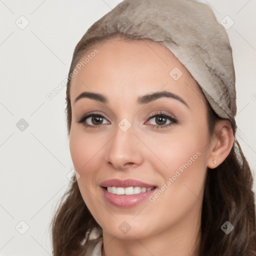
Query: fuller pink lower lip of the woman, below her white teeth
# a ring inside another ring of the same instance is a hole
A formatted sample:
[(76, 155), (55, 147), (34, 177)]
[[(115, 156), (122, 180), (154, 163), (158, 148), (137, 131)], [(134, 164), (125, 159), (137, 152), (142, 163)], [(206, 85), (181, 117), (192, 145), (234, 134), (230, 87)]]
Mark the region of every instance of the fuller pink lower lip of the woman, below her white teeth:
[(129, 208), (141, 203), (142, 201), (146, 200), (150, 194), (155, 191), (155, 189), (156, 187), (143, 193), (126, 195), (110, 193), (101, 186), (105, 199), (112, 205), (122, 208)]

